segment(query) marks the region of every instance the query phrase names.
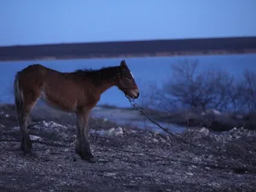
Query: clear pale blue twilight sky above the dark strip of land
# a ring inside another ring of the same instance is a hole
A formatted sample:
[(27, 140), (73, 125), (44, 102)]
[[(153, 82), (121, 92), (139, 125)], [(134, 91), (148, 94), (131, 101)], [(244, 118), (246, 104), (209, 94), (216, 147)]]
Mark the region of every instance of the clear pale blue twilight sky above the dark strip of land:
[(256, 0), (2, 0), (0, 46), (256, 36)]

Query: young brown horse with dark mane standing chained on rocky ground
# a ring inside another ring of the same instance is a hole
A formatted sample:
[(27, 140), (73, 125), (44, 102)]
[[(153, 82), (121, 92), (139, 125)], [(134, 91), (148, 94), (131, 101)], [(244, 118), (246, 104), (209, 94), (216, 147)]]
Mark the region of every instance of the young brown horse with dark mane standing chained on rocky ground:
[(96, 162), (90, 151), (89, 116), (99, 102), (102, 93), (112, 86), (133, 99), (139, 90), (125, 61), (116, 67), (102, 67), (99, 70), (77, 70), (61, 73), (39, 64), (31, 65), (15, 76), (15, 105), (21, 132), (21, 150), (34, 154), (32, 141), (27, 131), (27, 119), (39, 98), (52, 107), (76, 113), (78, 140), (75, 152), (82, 159)]

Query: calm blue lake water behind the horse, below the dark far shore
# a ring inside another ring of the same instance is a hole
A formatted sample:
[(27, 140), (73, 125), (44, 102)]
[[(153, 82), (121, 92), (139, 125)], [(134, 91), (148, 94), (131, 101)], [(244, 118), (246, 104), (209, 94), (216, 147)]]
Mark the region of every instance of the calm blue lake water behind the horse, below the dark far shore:
[[(147, 91), (147, 84), (163, 84), (172, 79), (170, 66), (173, 63), (197, 60), (201, 70), (207, 67), (226, 69), (235, 75), (241, 74), (244, 69), (256, 71), (256, 54), (253, 55), (204, 55), (204, 56), (175, 56), (175, 57), (145, 57), (145, 58), (111, 58), (111, 59), (80, 59), (57, 61), (4, 61), (0, 62), (0, 102), (14, 102), (13, 82), (15, 73), (32, 63), (40, 63), (61, 72), (72, 72), (78, 68), (92, 68), (116, 66), (125, 59), (130, 67), (138, 87), (143, 92)], [(67, 90), (68, 91), (68, 90)], [(142, 102), (143, 97), (137, 101)], [(102, 94), (98, 104), (109, 104), (117, 107), (131, 107), (124, 94), (113, 87)]]

